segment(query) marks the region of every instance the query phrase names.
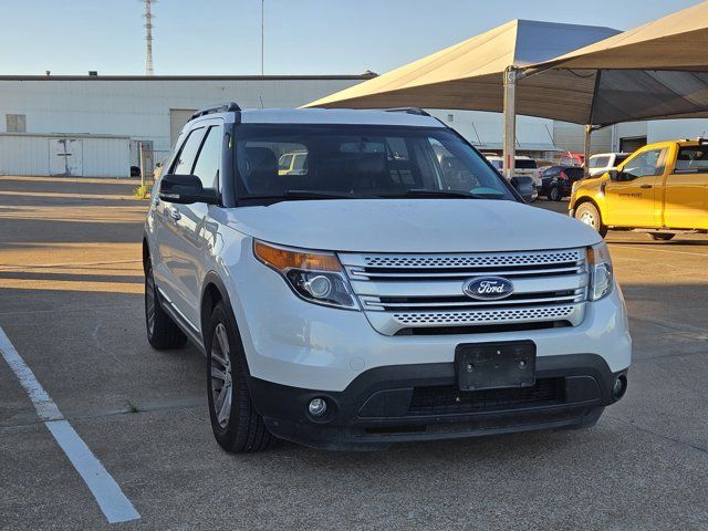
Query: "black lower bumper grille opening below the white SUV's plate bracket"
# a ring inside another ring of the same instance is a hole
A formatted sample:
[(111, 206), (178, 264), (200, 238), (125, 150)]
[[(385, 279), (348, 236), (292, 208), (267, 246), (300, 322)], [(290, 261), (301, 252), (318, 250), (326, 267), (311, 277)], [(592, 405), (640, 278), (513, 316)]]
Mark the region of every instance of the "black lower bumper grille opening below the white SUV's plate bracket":
[(454, 385), (415, 387), (409, 415), (454, 415), (519, 407), (552, 406), (565, 402), (564, 378), (541, 378), (532, 387), (460, 391)]

